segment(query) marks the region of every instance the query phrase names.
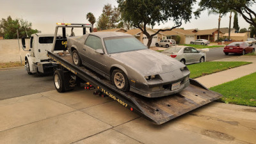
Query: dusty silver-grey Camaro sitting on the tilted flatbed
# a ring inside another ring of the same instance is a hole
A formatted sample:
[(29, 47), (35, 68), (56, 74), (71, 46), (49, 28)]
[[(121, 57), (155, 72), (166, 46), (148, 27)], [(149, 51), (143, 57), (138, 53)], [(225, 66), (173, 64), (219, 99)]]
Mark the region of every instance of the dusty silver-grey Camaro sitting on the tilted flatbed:
[(132, 35), (87, 33), (70, 36), (67, 46), (75, 65), (91, 68), (123, 92), (163, 97), (189, 85), (190, 72), (185, 65), (148, 49)]

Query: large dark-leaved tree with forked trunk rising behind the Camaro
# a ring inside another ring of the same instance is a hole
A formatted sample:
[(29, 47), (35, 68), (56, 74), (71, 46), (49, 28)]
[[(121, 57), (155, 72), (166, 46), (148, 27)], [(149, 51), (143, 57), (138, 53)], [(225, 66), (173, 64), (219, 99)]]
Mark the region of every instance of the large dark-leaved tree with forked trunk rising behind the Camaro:
[[(164, 0), (117, 0), (118, 8), (125, 21), (131, 22), (132, 26), (141, 30), (148, 38), (148, 48), (152, 43), (152, 37), (160, 31), (171, 31), (191, 19), (192, 6), (196, 0), (164, 1)], [(160, 22), (172, 20), (175, 24), (169, 29), (159, 29), (156, 33), (149, 34), (147, 26), (154, 27)], [(143, 26), (141, 26), (143, 24)]]

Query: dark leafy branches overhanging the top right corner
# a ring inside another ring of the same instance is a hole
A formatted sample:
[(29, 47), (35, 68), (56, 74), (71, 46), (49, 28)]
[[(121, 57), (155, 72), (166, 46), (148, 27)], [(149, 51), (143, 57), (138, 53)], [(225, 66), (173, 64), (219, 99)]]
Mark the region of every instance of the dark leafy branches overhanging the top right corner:
[(218, 9), (222, 12), (230, 12), (230, 10), (234, 10), (241, 14), (246, 22), (252, 24), (252, 26), (256, 28), (256, 22), (253, 20), (256, 17), (256, 12), (252, 10), (255, 5), (255, 0), (201, 0), (199, 3), (200, 10), (196, 11), (195, 15), (198, 16), (200, 11), (205, 9)]

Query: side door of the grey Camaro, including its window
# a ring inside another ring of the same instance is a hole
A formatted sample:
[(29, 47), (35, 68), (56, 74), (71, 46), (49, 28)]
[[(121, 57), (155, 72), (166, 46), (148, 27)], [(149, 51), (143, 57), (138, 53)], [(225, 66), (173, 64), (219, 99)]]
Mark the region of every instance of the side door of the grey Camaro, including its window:
[(96, 52), (97, 49), (104, 51), (102, 40), (98, 36), (89, 35), (84, 42), (84, 49), (84, 62), (87, 63), (88, 67), (96, 70), (102, 76), (108, 76), (108, 67), (104, 63), (108, 60), (108, 55)]

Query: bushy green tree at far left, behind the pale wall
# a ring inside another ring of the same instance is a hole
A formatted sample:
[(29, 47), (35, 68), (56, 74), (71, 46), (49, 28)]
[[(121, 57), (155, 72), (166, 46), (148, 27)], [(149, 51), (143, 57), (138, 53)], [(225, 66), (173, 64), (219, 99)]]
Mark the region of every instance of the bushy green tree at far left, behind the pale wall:
[(31, 36), (33, 33), (38, 33), (37, 29), (32, 29), (32, 23), (24, 19), (12, 19), (11, 16), (7, 19), (0, 20), (0, 35), (5, 39), (17, 38), (17, 29), (19, 30), (19, 37)]

